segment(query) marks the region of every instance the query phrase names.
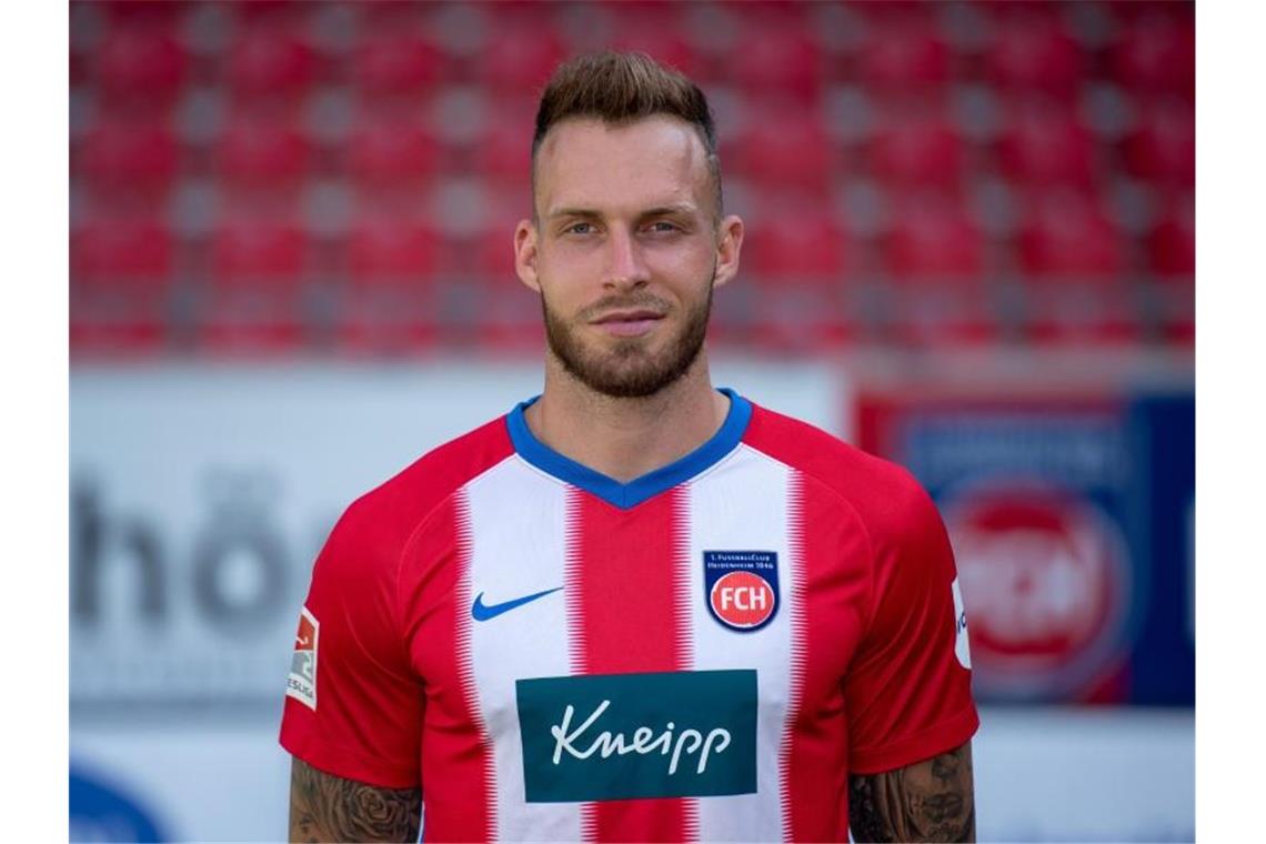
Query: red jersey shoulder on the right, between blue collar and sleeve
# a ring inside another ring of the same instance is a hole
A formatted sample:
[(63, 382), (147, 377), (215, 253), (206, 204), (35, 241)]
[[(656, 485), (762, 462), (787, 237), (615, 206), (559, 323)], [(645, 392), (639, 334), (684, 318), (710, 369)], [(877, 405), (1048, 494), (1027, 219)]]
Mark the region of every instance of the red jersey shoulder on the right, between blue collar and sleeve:
[(939, 524), (932, 499), (908, 469), (820, 428), (753, 405), (743, 442), (829, 490), (875, 539)]

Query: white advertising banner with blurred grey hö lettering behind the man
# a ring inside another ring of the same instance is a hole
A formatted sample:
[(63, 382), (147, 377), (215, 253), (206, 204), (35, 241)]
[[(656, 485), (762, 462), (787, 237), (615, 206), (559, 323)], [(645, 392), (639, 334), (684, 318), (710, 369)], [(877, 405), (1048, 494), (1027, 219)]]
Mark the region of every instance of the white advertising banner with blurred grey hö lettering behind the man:
[[(717, 381), (842, 433), (829, 367)], [(76, 715), (273, 707), (311, 562), (356, 496), (541, 391), (538, 363), (78, 368)]]

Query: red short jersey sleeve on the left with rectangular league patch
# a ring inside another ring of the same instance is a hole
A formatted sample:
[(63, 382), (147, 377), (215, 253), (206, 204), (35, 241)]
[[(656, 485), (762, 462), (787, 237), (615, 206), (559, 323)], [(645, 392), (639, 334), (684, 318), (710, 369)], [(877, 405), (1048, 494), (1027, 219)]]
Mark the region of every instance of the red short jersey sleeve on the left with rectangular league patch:
[(424, 690), (399, 634), (399, 549), (362, 501), (313, 567), (286, 682), (281, 745), (325, 773), (387, 788), (420, 782)]

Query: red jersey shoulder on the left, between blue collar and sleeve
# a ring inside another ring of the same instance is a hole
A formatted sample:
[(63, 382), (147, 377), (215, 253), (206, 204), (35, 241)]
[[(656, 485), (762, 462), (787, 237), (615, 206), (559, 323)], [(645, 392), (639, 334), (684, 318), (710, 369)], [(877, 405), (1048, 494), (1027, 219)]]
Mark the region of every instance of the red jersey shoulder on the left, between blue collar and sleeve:
[(449, 440), (352, 501), (328, 544), (354, 548), (360, 559), (396, 559), (438, 505), (513, 453), (504, 416)]

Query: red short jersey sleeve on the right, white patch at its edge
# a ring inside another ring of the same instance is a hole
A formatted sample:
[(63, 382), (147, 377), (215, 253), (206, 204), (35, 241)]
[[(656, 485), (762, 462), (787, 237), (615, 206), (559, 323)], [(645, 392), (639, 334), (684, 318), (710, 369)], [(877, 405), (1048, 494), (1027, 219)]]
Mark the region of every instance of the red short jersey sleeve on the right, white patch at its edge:
[(980, 725), (950, 539), (927, 492), (901, 478), (891, 515), (870, 528), (871, 617), (844, 678), (852, 773), (952, 750)]

